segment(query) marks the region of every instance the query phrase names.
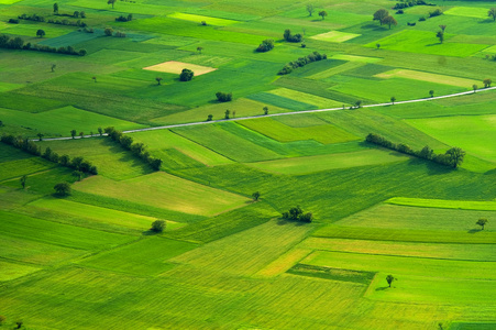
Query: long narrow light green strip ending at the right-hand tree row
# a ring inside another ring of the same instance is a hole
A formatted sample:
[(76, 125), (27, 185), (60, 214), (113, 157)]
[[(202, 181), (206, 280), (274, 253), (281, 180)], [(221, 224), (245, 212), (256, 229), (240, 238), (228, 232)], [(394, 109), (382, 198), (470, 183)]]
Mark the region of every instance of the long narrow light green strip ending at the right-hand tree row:
[(409, 160), (408, 156), (394, 152), (366, 150), (353, 153), (339, 153), (322, 156), (257, 162), (250, 163), (250, 166), (269, 173), (301, 175), (335, 168), (348, 168), (367, 165), (381, 165), (394, 162), (406, 162), (408, 160)]

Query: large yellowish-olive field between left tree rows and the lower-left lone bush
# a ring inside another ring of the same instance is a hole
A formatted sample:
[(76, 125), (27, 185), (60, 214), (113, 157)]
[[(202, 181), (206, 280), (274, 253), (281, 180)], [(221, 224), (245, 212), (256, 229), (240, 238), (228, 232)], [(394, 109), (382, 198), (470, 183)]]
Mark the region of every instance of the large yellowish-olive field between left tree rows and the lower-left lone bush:
[(163, 172), (123, 182), (93, 176), (77, 183), (74, 188), (82, 193), (202, 216), (213, 216), (241, 207), (247, 201), (245, 197), (195, 184)]

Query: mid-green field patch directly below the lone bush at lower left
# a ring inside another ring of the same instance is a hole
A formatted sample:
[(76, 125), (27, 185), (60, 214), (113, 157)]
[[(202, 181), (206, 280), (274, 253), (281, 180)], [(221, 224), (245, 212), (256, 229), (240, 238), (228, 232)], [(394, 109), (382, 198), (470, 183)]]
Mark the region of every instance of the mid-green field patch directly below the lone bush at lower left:
[(136, 276), (153, 276), (174, 267), (174, 264), (167, 263), (167, 260), (186, 253), (196, 246), (187, 242), (148, 238), (99, 253), (96, 256), (85, 258), (79, 264), (112, 272), (130, 273)]

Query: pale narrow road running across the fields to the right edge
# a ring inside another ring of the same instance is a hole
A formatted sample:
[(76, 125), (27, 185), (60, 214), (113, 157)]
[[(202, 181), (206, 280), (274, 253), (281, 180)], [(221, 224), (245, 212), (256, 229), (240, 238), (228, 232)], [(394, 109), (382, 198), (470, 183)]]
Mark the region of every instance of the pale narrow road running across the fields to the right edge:
[[(496, 87), (488, 87), (488, 88), (481, 88), (477, 89), (476, 92), (486, 91), (486, 90), (494, 90)], [(406, 103), (415, 103), (415, 102), (426, 102), (426, 101), (432, 101), (432, 100), (439, 100), (439, 99), (448, 99), (453, 98), (458, 96), (464, 96), (464, 95), (471, 95), (475, 94), (473, 90), (469, 91), (462, 91), (456, 94), (449, 94), (449, 95), (442, 95), (439, 97), (432, 97), (432, 98), (423, 98), (423, 99), (415, 99), (415, 100), (407, 100), (407, 101), (398, 101), (395, 102), (396, 105), (406, 105)], [(362, 108), (376, 108), (376, 107), (387, 107), (392, 106), (390, 102), (387, 103), (377, 103), (377, 105), (365, 105), (362, 106)], [(136, 133), (136, 132), (145, 132), (145, 131), (156, 131), (156, 130), (167, 130), (167, 129), (175, 129), (175, 128), (184, 128), (184, 127), (194, 127), (194, 125), (203, 125), (203, 124), (211, 124), (216, 122), (227, 122), (227, 121), (239, 121), (239, 120), (246, 120), (246, 119), (256, 119), (256, 118), (268, 118), (268, 117), (279, 117), (279, 116), (290, 116), (290, 114), (300, 114), (300, 113), (313, 113), (313, 112), (326, 112), (326, 111), (339, 111), (339, 110), (348, 110), (348, 108), (329, 108), (329, 109), (316, 109), (316, 110), (302, 110), (302, 111), (293, 111), (293, 112), (282, 112), (282, 113), (271, 113), (271, 114), (260, 114), (260, 116), (251, 116), (251, 117), (240, 117), (240, 118), (231, 118), (231, 119), (219, 119), (219, 120), (211, 120), (211, 121), (199, 121), (199, 122), (189, 122), (189, 123), (181, 123), (181, 124), (172, 124), (172, 125), (163, 125), (163, 127), (153, 127), (153, 128), (146, 128), (146, 129), (137, 129), (137, 130), (129, 130), (123, 131), (122, 133)], [(107, 135), (107, 134), (103, 134)], [(95, 138), (99, 135), (84, 135), (82, 138)], [(80, 136), (75, 139), (82, 139)], [(49, 138), (49, 139), (43, 139), (43, 141), (60, 141), (60, 140), (73, 140), (71, 136), (67, 138)], [(37, 139), (33, 139), (33, 141), (38, 141)]]

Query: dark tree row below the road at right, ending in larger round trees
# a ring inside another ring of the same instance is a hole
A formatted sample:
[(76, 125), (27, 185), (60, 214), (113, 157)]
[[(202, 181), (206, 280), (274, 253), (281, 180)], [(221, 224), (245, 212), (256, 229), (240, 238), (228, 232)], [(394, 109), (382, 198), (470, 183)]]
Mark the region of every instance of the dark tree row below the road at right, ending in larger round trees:
[(428, 145), (426, 145), (422, 150), (420, 151), (416, 151), (412, 150), (409, 145), (404, 144), (404, 143), (393, 143), (389, 140), (387, 140), (386, 138), (379, 135), (379, 134), (375, 134), (375, 133), (370, 133), (366, 139), (366, 142), (370, 143), (374, 143), (407, 155), (412, 155), (419, 158), (423, 158), (427, 161), (431, 161), (441, 165), (445, 165), (445, 166), (451, 166), (456, 168), (458, 166), (460, 166), (460, 164), (463, 163), (463, 158), (465, 156), (465, 152), (455, 146), (452, 147), (450, 150), (448, 150), (444, 154), (436, 154), (432, 148), (430, 148)]

